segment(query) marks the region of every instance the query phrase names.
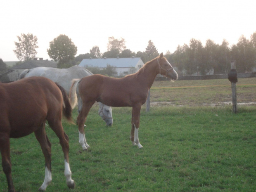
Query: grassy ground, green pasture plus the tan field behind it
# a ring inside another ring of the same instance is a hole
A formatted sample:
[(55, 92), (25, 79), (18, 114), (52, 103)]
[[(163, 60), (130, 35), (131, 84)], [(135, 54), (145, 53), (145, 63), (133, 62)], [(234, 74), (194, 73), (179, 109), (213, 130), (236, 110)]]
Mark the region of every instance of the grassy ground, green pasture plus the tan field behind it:
[[(239, 83), (238, 100), (256, 102), (256, 78), (239, 79)], [(175, 86), (178, 88), (170, 88)], [(106, 127), (97, 106), (92, 107), (85, 130), (91, 146), (87, 152), (78, 143), (77, 127), (63, 121), (69, 135), (74, 190), (66, 187), (62, 149), (47, 128), (52, 143), (52, 183), (46, 191), (255, 192), (256, 106), (239, 106), (237, 114), (232, 113), (232, 105), (203, 106), (230, 101), (230, 92), (230, 82), (224, 80), (155, 82), (151, 101), (175, 105), (154, 105), (148, 113), (142, 107), (139, 136), (143, 149), (129, 141), (131, 108), (113, 108), (114, 124)], [(76, 111), (73, 116), (75, 119)], [(45, 170), (33, 134), (11, 139), (11, 160), (17, 192), (37, 191)], [(2, 169), (0, 191), (7, 192)]]

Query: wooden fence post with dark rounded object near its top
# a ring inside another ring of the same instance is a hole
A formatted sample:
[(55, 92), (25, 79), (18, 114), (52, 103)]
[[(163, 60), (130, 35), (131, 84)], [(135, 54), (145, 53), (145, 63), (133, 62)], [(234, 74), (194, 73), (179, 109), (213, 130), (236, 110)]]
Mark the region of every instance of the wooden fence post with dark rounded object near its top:
[(235, 61), (231, 61), (231, 70), (228, 73), (228, 80), (231, 82), (232, 88), (233, 113), (237, 113), (237, 70), (235, 67)]

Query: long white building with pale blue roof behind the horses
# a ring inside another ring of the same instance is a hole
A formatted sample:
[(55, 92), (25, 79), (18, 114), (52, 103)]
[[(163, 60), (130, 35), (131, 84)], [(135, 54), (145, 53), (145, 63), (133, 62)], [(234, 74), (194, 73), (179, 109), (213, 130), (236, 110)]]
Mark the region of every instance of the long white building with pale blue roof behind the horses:
[(131, 73), (137, 72), (144, 63), (140, 57), (130, 58), (101, 58), (101, 59), (83, 59), (79, 66), (86, 68), (95, 67), (99, 69), (107, 68), (111, 65), (116, 70), (116, 76), (126, 76)]

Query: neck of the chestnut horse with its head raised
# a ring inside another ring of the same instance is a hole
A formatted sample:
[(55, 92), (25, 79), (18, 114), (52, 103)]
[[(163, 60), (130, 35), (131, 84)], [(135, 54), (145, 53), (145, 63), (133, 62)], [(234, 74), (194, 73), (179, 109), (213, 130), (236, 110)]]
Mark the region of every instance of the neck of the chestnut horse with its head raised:
[(144, 69), (141, 69), (138, 72), (139, 73), (137, 74), (137, 77), (140, 78), (141, 81), (144, 82), (148, 88), (151, 88), (156, 78), (156, 75), (159, 73), (159, 66), (156, 62), (156, 59), (153, 59), (152, 61), (146, 63)]

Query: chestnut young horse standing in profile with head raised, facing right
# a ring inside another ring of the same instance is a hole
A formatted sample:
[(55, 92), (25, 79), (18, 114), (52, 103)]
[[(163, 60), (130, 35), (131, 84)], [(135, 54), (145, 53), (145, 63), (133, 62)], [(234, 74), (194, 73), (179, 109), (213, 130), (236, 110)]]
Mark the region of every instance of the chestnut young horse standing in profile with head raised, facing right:
[(71, 105), (76, 104), (76, 87), (83, 101), (83, 108), (77, 117), (79, 129), (79, 143), (86, 150), (90, 147), (85, 140), (84, 123), (92, 105), (102, 102), (111, 107), (132, 107), (132, 129), (130, 140), (133, 145), (142, 148), (139, 142), (138, 129), (140, 126), (140, 109), (147, 100), (147, 94), (157, 74), (164, 75), (172, 80), (178, 79), (178, 74), (171, 64), (163, 57), (147, 62), (137, 73), (123, 78), (111, 78), (102, 75), (92, 75), (73, 80), (69, 91)]

